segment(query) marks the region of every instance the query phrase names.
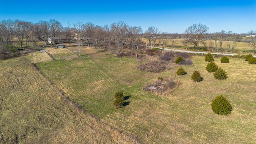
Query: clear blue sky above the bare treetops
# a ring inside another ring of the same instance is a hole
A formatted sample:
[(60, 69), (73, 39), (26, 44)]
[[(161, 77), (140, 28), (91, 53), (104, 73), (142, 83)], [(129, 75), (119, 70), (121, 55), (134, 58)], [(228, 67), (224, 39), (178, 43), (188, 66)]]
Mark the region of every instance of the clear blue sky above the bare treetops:
[(209, 32), (247, 33), (256, 30), (256, 0), (0, 0), (0, 20), (38, 22), (56, 19), (104, 26), (120, 20), (129, 26), (158, 27), (183, 33), (188, 26), (205, 24)]

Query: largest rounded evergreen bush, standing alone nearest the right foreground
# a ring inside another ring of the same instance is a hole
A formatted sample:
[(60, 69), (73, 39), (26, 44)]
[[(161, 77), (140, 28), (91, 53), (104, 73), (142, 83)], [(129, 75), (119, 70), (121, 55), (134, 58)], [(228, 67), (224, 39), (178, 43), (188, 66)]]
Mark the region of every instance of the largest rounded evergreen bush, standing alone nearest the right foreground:
[(227, 115), (231, 114), (232, 111), (232, 106), (226, 99), (226, 97), (219, 95), (217, 96), (214, 100), (212, 100), (212, 111), (215, 114), (220, 114), (220, 115)]

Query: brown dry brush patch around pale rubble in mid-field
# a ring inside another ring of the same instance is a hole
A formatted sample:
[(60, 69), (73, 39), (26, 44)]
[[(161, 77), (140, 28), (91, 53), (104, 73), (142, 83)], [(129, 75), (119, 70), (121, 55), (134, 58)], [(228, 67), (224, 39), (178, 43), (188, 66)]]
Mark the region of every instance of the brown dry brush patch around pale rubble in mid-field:
[(154, 82), (146, 84), (142, 89), (145, 91), (155, 92), (157, 94), (168, 95), (173, 90), (178, 88), (180, 81), (176, 80), (174, 76), (163, 78), (163, 80), (158, 79)]

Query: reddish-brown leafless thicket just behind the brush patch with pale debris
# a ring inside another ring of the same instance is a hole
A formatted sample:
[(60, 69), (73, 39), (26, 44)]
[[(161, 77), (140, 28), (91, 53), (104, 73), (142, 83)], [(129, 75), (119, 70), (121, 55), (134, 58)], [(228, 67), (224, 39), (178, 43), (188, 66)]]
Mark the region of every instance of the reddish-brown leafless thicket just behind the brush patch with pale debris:
[(139, 65), (138, 70), (143, 72), (163, 72), (166, 69), (165, 64), (164, 61), (150, 61)]

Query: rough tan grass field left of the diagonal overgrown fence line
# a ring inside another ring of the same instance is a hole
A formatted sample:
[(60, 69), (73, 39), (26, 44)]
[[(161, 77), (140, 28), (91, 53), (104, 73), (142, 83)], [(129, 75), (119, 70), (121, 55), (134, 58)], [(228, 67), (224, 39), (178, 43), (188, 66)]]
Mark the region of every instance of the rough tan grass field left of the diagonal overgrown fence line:
[(81, 112), (24, 57), (0, 61), (1, 143), (140, 143)]

